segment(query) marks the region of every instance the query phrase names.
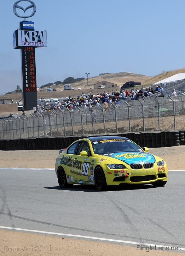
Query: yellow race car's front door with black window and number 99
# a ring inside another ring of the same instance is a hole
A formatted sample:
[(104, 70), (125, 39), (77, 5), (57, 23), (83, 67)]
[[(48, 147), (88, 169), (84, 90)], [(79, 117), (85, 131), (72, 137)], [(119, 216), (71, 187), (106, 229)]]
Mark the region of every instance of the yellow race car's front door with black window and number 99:
[(82, 151), (88, 151), (89, 155), (90, 153), (90, 147), (88, 142), (86, 141), (80, 141), (77, 149), (76, 149), (76, 155), (75, 160), (73, 161), (73, 175), (74, 179), (78, 180), (78, 183), (90, 183), (91, 181), (91, 156), (81, 156), (80, 152)]

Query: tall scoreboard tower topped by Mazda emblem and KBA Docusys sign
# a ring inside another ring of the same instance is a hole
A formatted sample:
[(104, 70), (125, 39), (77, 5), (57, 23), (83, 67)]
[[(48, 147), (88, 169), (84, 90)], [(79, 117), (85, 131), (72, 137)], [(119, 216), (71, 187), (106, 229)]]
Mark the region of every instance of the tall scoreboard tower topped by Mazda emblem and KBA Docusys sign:
[[(24, 9), (18, 5), (19, 2), (30, 2), (31, 5)], [(29, 16), (17, 14), (16, 9), (21, 9), (25, 13), (30, 8), (33, 8), (33, 12)], [(13, 12), (17, 17), (24, 18), (24, 21), (19, 22), (19, 29), (13, 32), (13, 48), (21, 49), (24, 110), (33, 110), (34, 107), (37, 107), (35, 48), (47, 47), (47, 33), (46, 31), (35, 31), (34, 22), (26, 20), (36, 12), (36, 6), (33, 1), (19, 0), (15, 2)]]

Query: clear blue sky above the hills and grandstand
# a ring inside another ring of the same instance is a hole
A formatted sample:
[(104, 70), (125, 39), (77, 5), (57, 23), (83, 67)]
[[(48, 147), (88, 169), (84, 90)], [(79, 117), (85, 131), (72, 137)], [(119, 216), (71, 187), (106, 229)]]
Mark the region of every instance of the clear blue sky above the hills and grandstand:
[[(0, 93), (22, 86), (21, 52), (13, 49), (12, 33), (23, 19), (13, 13), (15, 2), (1, 0)], [(86, 78), (86, 72), (89, 77), (122, 71), (155, 76), (185, 67), (183, 0), (34, 3), (36, 14), (28, 21), (47, 31), (47, 48), (36, 48), (37, 87), (69, 76)]]

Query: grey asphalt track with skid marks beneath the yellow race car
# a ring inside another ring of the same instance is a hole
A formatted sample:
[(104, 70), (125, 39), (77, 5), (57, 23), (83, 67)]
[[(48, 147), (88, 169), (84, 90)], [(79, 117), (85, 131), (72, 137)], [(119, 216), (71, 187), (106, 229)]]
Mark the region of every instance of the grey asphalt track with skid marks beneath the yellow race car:
[(52, 169), (0, 169), (0, 226), (185, 248), (184, 184), (62, 190)]

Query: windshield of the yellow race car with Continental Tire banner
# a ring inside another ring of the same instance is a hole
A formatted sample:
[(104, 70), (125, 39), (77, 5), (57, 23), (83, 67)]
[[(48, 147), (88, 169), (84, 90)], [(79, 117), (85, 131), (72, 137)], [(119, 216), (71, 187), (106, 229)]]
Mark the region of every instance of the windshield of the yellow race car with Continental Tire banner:
[(143, 150), (137, 144), (129, 139), (97, 140), (91, 143), (94, 153), (100, 155), (108, 155), (110, 153), (118, 152), (143, 152)]

